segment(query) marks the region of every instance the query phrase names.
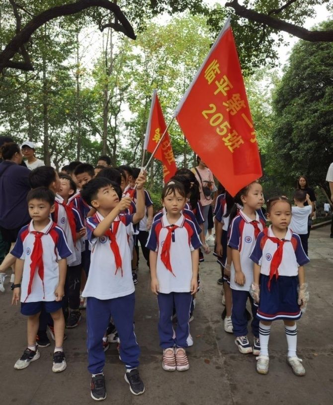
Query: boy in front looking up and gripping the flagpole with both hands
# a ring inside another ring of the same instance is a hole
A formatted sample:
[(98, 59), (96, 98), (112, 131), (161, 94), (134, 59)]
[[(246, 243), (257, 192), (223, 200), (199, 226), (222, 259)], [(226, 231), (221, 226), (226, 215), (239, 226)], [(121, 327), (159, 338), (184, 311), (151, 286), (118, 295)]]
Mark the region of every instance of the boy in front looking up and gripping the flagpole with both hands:
[(97, 211), (87, 218), (87, 237), (92, 251), (88, 279), (82, 293), (87, 297), (91, 397), (96, 401), (106, 398), (102, 338), (111, 316), (119, 333), (119, 354), (126, 366), (125, 380), (132, 394), (140, 395), (145, 391), (137, 369), (140, 349), (134, 334), (135, 287), (126, 232), (126, 225), (138, 223), (144, 216), (144, 183), (145, 174), (141, 174), (137, 179), (137, 212), (133, 215), (120, 214), (129, 208), (131, 198), (124, 197), (119, 201), (119, 185), (105, 177), (89, 181), (81, 191), (84, 201)]

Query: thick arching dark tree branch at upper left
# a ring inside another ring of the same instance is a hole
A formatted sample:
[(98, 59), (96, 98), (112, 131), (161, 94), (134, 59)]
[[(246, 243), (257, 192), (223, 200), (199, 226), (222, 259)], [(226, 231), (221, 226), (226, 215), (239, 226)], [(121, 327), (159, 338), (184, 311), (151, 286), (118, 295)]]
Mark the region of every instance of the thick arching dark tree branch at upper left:
[[(65, 15), (76, 14), (90, 7), (102, 7), (110, 10), (114, 13), (117, 18), (116, 24), (112, 27), (113, 29), (123, 32), (126, 36), (131, 39), (135, 39), (136, 35), (134, 33), (133, 27), (127, 20), (120, 7), (109, 1), (109, 0), (81, 0), (70, 4), (65, 4), (57, 7), (49, 8), (42, 13), (34, 16), (16, 35), (11, 39), (7, 46), (0, 53), (0, 73), (6, 67), (24, 70), (33, 70), (33, 67), (29, 66), (28, 63), (22, 62), (12, 62), (11, 58), (22, 49), (23, 45), (28, 42), (31, 35), (46, 22)], [(23, 54), (24, 51), (22, 51)], [(23, 54), (24, 56), (24, 54)]]

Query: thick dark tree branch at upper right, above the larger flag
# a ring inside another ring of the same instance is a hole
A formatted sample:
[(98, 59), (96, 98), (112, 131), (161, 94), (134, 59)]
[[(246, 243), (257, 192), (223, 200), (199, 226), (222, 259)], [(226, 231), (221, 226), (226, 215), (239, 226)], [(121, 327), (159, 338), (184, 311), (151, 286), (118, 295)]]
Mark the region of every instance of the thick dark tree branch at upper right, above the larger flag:
[[(289, 2), (291, 3), (291, 1)], [(271, 17), (270, 15), (267, 14), (262, 14), (250, 8), (246, 8), (244, 5), (239, 4), (237, 0), (227, 2), (225, 6), (232, 7), (235, 10), (236, 15), (239, 15), (240, 17), (244, 17), (249, 19), (250, 21), (256, 21), (261, 24), (268, 25), (280, 31), (288, 32), (289, 34), (297, 36), (298, 38), (303, 39), (305, 41), (333, 42), (333, 30), (309, 31), (308, 29), (300, 27), (298, 25), (291, 24), (284, 20)]]

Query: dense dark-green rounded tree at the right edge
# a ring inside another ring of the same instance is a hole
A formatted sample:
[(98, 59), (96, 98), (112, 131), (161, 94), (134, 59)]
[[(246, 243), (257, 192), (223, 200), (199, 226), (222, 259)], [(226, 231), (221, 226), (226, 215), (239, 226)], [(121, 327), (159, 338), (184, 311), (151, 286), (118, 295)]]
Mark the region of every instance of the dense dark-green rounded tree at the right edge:
[[(320, 28), (333, 28), (333, 21)], [(281, 183), (299, 175), (328, 194), (333, 160), (333, 43), (299, 41), (293, 48), (274, 99), (272, 165)]]

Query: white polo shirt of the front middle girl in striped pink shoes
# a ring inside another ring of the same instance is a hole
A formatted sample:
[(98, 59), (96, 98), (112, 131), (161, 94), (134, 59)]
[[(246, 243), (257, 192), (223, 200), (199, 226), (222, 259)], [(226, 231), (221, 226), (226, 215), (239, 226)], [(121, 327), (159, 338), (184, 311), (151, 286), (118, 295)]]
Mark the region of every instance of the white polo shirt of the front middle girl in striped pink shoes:
[(175, 228), (170, 246), (170, 263), (174, 275), (167, 270), (161, 260), (163, 244), (167, 237), (167, 215), (153, 223), (149, 233), (146, 247), (157, 252), (157, 278), (159, 280), (160, 292), (189, 292), (192, 279), (192, 257), (191, 251), (200, 248), (201, 242), (192, 221), (181, 215), (174, 224)]

